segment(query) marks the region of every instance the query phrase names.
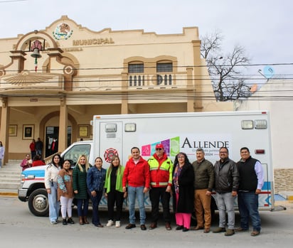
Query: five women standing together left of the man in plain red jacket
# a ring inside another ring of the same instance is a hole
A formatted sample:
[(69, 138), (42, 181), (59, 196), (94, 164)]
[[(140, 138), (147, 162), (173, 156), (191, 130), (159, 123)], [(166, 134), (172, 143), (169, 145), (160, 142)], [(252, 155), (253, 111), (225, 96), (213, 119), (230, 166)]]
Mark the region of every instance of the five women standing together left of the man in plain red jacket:
[(87, 156), (81, 155), (72, 170), (70, 161), (61, 161), (55, 154), (45, 171), (45, 187), (48, 193), (49, 218), (52, 224), (58, 223), (59, 211), (63, 225), (74, 224), (72, 219), (73, 196), (77, 200), (79, 224), (87, 220), (89, 199), (92, 201), (92, 224), (103, 227), (98, 215), (98, 207), (105, 190), (109, 221), (107, 226), (114, 225), (114, 206), (116, 205), (116, 227), (120, 227), (122, 205), (126, 194), (122, 190), (124, 167), (117, 156), (112, 157), (110, 167), (102, 168), (102, 158), (95, 158), (95, 166), (90, 167)]

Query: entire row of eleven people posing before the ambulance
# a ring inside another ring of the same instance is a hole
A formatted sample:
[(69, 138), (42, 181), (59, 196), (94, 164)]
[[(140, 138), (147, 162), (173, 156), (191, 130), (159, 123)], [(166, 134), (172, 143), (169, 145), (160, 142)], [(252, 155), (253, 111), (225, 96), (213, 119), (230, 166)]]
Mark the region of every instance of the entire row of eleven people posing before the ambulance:
[[(229, 158), (228, 149), (220, 148), (220, 160), (215, 165), (206, 160), (204, 150), (196, 150), (196, 161), (191, 163), (186, 153), (179, 152), (174, 163), (164, 151), (163, 144), (156, 144), (155, 153), (144, 160), (138, 147), (131, 149), (131, 157), (122, 166), (118, 156), (112, 156), (110, 167), (102, 168), (102, 158), (95, 158), (95, 166), (90, 167), (87, 156), (81, 155), (72, 170), (70, 161), (61, 162), (56, 154), (46, 168), (45, 185), (48, 192), (50, 222), (58, 222), (61, 208), (63, 225), (73, 224), (73, 197), (77, 200), (79, 224), (89, 224), (87, 210), (92, 201), (92, 224), (103, 227), (98, 207), (105, 192), (107, 198), (107, 227), (121, 226), (122, 205), (128, 197), (129, 224), (126, 229), (136, 227), (135, 203), (139, 206), (139, 224), (146, 230), (144, 194), (149, 192), (151, 200), (151, 225), (154, 230), (159, 221), (159, 203), (163, 208), (166, 230), (171, 230), (170, 199), (173, 196), (173, 210), (176, 230), (203, 230), (211, 232), (211, 195), (215, 191), (219, 226), (214, 233), (225, 232), (231, 236), (245, 232), (252, 220), (252, 236), (260, 234), (258, 194), (264, 183), (260, 161), (250, 156), (247, 147), (240, 149), (241, 159), (235, 163)], [(238, 195), (240, 227), (235, 229), (234, 200)], [(59, 203), (60, 201), (60, 203)], [(116, 214), (114, 206), (116, 205)], [(196, 212), (196, 227), (191, 228), (191, 214)], [(226, 229), (225, 212), (228, 213)], [(67, 217), (67, 219), (66, 219)]]

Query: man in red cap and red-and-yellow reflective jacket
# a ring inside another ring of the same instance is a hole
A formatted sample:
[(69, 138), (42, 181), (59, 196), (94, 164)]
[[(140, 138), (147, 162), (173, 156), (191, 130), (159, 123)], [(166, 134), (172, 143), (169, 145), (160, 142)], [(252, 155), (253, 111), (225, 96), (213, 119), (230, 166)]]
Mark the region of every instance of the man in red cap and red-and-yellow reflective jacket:
[(149, 230), (157, 226), (159, 220), (159, 203), (163, 205), (163, 216), (166, 223), (166, 230), (171, 230), (171, 215), (169, 202), (172, 194), (172, 171), (173, 163), (164, 151), (163, 144), (156, 144), (156, 152), (149, 158), (149, 169), (151, 176), (151, 225)]

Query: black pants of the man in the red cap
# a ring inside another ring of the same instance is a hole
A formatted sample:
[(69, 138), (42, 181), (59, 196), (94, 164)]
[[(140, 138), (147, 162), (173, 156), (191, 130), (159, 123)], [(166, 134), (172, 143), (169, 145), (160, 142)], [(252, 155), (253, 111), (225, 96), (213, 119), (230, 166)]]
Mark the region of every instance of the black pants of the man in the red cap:
[(151, 188), (149, 199), (151, 200), (151, 222), (159, 220), (159, 203), (163, 205), (163, 216), (165, 222), (171, 222), (169, 202), (171, 195), (166, 192), (167, 187)]

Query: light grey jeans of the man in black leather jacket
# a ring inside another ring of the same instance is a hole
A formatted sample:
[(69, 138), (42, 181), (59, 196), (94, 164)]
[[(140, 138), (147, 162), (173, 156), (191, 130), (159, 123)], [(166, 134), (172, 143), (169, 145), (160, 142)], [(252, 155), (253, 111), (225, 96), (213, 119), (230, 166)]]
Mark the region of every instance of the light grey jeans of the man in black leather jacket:
[(228, 215), (228, 229), (235, 229), (235, 212), (234, 212), (234, 199), (232, 193), (223, 193), (216, 195), (219, 210), (219, 227), (225, 227), (226, 224), (226, 211)]

